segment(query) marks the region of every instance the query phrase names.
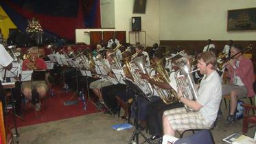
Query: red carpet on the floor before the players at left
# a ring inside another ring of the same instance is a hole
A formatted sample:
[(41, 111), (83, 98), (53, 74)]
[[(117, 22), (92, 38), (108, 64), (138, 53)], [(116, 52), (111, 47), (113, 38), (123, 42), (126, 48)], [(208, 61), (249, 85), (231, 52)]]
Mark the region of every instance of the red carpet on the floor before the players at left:
[[(54, 97), (47, 97), (44, 99), (45, 108), (41, 106), (41, 110), (35, 112), (34, 108), (23, 110), (23, 121), (16, 117), (17, 127), (26, 125), (34, 125), (37, 123), (45, 123), (48, 121), (56, 121), (60, 119), (67, 119), (71, 117), (78, 117), (81, 115), (87, 115), (94, 112), (98, 112), (95, 106), (86, 98), (87, 109), (83, 110), (83, 104), (78, 97), (72, 97), (73, 93), (58, 92), (55, 91)], [(71, 106), (64, 106), (64, 102), (67, 100), (78, 100), (78, 104)]]

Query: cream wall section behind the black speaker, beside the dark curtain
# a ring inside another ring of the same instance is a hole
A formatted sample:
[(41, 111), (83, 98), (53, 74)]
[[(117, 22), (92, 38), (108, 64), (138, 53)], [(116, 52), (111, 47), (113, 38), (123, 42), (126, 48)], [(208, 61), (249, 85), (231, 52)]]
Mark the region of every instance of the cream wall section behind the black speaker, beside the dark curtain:
[[(133, 0), (115, 0), (115, 29), (126, 31), (126, 42), (129, 43), (129, 31), (132, 30), (132, 16), (141, 16), (141, 30), (146, 31), (146, 44), (152, 46), (159, 43), (159, 0), (148, 0), (146, 14), (132, 14)], [(106, 29), (97, 29), (106, 30)], [(109, 30), (109, 29), (108, 29)], [(89, 34), (84, 32), (95, 31), (95, 29), (76, 29), (76, 43), (89, 44)], [(144, 44), (144, 33), (141, 33), (141, 44)], [(130, 43), (135, 43), (135, 34), (130, 35)]]

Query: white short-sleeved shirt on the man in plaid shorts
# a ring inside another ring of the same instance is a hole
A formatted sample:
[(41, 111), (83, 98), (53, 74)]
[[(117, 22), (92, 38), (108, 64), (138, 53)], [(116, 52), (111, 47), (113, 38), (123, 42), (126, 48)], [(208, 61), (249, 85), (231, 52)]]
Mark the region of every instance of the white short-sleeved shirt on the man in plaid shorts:
[(200, 82), (198, 89), (198, 103), (202, 105), (199, 112), (209, 123), (216, 120), (220, 100), (222, 99), (222, 84), (217, 71), (213, 71), (207, 77), (206, 75)]

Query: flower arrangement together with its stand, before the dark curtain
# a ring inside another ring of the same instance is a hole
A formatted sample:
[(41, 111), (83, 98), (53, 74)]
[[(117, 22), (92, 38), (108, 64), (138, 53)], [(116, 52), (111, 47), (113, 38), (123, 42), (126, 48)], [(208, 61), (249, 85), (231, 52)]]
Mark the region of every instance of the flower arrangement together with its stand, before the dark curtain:
[(41, 27), (39, 21), (35, 18), (32, 21), (27, 21), (27, 34), (34, 39), (36, 45), (43, 45), (43, 28)]

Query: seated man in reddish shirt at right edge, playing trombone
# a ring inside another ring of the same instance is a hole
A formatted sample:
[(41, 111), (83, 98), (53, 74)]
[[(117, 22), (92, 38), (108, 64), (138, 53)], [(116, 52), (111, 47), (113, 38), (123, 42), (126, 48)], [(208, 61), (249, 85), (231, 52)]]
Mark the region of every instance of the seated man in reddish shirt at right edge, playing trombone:
[[(231, 56), (242, 51), (241, 45), (231, 46)], [(237, 107), (237, 99), (241, 97), (255, 96), (253, 91), (254, 73), (253, 73), (253, 62), (245, 58), (242, 54), (236, 55), (233, 59), (227, 62), (227, 70), (231, 77), (231, 84), (224, 84), (222, 86), (223, 95), (231, 96), (230, 112), (226, 118), (226, 125), (235, 123), (235, 110)]]

